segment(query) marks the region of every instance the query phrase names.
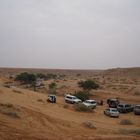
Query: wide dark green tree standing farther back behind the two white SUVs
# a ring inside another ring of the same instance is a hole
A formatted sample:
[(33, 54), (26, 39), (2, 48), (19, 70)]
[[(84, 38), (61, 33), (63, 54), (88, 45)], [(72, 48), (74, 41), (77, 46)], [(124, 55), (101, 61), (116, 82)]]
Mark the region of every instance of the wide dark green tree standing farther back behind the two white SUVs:
[(79, 81), (78, 85), (83, 90), (87, 90), (87, 91), (99, 88), (99, 85), (97, 83), (95, 83), (93, 80)]

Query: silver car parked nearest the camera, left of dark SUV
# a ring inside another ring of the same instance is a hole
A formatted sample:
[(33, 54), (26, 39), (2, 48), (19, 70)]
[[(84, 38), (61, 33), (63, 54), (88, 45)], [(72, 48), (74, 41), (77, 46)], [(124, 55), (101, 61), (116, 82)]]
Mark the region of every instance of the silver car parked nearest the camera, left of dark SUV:
[(119, 117), (119, 111), (117, 108), (107, 108), (105, 109), (104, 114), (110, 117)]

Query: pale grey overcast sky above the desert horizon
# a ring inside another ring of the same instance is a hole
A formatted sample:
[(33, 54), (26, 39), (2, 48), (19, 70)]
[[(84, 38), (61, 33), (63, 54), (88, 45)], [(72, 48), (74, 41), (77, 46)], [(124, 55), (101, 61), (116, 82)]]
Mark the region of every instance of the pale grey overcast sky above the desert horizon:
[(0, 67), (140, 66), (140, 0), (0, 0)]

